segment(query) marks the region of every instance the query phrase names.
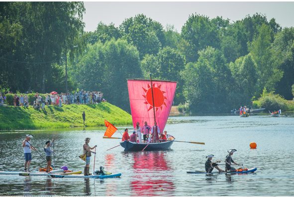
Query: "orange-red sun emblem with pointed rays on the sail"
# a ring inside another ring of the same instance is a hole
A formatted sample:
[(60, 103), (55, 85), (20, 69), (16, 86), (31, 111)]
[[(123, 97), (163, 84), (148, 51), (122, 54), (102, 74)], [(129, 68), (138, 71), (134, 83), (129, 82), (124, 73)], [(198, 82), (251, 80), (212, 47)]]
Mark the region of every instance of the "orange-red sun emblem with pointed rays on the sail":
[[(167, 99), (164, 94), (166, 92), (161, 91), (160, 90), (161, 85), (158, 85), (157, 87), (155, 87), (155, 84), (153, 84), (153, 97), (154, 97), (154, 107), (155, 110), (157, 111), (159, 108), (162, 109), (163, 105), (167, 106), (165, 103), (165, 99)], [(145, 92), (145, 95), (143, 95), (143, 97), (146, 99), (146, 101), (144, 102), (145, 104), (149, 104), (150, 107), (148, 108), (148, 111), (150, 109), (153, 108), (153, 102), (152, 102), (152, 90), (151, 90), (151, 86), (148, 84), (148, 89), (144, 89), (142, 87), (142, 89)]]

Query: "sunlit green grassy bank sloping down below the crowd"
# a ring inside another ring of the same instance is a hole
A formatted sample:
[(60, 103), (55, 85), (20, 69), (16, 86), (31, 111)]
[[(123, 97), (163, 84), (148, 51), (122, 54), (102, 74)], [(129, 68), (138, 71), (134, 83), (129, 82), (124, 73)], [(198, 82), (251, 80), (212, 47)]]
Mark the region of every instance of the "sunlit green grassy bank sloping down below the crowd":
[(104, 126), (104, 119), (114, 125), (132, 123), (131, 115), (108, 102), (93, 105), (45, 106), (36, 110), (14, 106), (0, 106), (0, 130), (49, 129), (83, 127), (82, 113), (86, 113), (86, 126)]

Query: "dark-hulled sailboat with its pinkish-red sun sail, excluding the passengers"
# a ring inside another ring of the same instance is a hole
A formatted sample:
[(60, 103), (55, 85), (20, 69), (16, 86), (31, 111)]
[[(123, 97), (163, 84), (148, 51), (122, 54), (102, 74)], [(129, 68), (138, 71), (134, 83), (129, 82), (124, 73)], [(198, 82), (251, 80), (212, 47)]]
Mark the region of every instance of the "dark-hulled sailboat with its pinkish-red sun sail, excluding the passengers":
[[(150, 81), (128, 79), (127, 84), (134, 128), (137, 122), (141, 126), (145, 121), (151, 126), (156, 122), (160, 132), (163, 132), (175, 97), (177, 82), (151, 80), (150, 75)], [(154, 137), (149, 144), (124, 141), (120, 142), (120, 145), (125, 151), (139, 151), (145, 147), (144, 150), (166, 150), (173, 144), (173, 141), (159, 143), (154, 141), (155, 139)]]

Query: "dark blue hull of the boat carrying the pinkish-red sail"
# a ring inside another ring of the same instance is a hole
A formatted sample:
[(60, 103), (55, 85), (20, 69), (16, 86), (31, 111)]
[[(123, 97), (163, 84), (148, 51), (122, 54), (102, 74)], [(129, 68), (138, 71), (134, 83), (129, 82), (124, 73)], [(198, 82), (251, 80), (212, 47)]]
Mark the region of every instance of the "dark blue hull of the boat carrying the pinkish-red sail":
[(173, 145), (174, 141), (167, 141), (162, 143), (150, 143), (148, 146), (145, 143), (132, 143), (128, 141), (120, 142), (120, 146), (124, 148), (124, 151), (142, 151), (144, 150), (152, 151), (152, 150), (168, 150)]

